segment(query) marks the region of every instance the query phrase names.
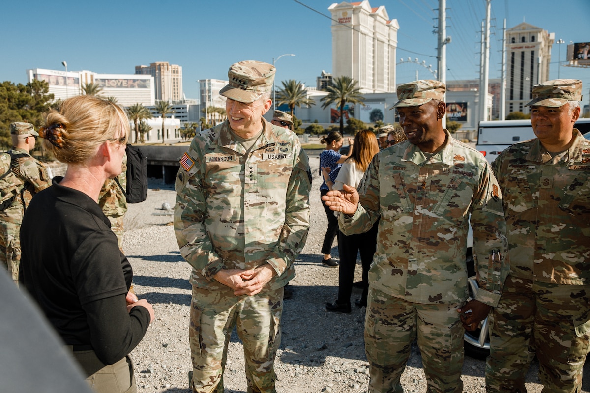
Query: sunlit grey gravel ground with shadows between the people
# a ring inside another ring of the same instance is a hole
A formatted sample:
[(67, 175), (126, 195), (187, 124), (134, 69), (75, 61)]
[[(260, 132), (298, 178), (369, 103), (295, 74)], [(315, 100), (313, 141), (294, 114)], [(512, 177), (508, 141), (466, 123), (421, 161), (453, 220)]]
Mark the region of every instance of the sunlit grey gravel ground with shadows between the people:
[[(307, 244), (296, 262), (291, 281), (293, 298), (285, 300), (283, 338), (275, 362), (277, 391), (285, 393), (364, 392), (368, 386), (368, 362), (363, 347), (365, 309), (350, 314), (328, 313), (324, 308), (337, 294), (338, 269), (322, 266), (320, 249), (327, 219), (320, 204), (317, 174), (319, 159), (310, 158), (314, 176), (310, 203), (312, 224)], [(192, 369), (188, 344), (191, 267), (179, 251), (172, 228), (175, 192), (171, 185), (152, 181), (148, 200), (129, 206), (125, 217), (123, 247), (135, 273), (135, 292), (153, 304), (155, 321), (132, 352), (139, 393), (189, 392)], [(336, 242), (332, 256), (338, 257)], [(360, 280), (360, 265), (356, 281)], [(353, 292), (352, 300), (359, 297)], [(464, 391), (485, 392), (485, 362), (466, 356)], [(588, 367), (586, 367), (588, 368)], [(527, 377), (529, 393), (540, 392), (533, 363)], [(585, 372), (585, 377), (588, 372)], [(590, 378), (585, 378), (588, 392)], [(244, 393), (243, 352), (234, 331), (224, 375), (226, 393)], [(425, 392), (426, 382), (417, 346), (412, 346), (402, 375), (405, 392)]]

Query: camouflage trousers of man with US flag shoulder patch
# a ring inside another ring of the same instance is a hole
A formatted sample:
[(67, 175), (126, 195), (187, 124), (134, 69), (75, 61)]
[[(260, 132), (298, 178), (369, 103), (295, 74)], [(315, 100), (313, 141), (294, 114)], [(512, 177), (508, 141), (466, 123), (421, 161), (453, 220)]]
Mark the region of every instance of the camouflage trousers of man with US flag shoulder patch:
[(274, 358), (281, 344), (283, 288), (254, 296), (234, 296), (232, 289), (192, 287), (189, 344), (193, 391), (223, 393), (223, 373), (231, 332), (244, 344), (247, 393), (275, 393)]

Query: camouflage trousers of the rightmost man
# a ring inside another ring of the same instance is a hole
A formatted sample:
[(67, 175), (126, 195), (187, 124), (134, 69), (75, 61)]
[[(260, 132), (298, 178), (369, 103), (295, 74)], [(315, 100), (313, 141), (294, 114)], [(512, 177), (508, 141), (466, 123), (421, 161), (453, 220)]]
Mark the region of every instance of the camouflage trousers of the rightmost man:
[(556, 285), (508, 276), (490, 313), (487, 392), (525, 393), (535, 353), (543, 392), (581, 391), (588, 354), (590, 285)]

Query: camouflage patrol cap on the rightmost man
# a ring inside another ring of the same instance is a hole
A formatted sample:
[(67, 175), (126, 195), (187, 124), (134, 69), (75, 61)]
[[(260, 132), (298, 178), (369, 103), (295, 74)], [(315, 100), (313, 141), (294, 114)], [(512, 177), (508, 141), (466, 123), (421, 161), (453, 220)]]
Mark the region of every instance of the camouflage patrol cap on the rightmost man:
[(525, 106), (558, 108), (568, 101), (581, 100), (581, 80), (554, 79), (533, 87), (533, 100)]

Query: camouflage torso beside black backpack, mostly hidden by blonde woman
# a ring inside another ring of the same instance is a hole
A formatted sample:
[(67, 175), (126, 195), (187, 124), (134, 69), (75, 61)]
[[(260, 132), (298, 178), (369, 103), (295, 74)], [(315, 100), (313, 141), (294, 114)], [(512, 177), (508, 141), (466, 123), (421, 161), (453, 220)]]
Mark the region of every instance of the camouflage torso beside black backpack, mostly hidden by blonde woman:
[[(117, 180), (121, 187), (127, 187), (127, 155), (123, 156), (123, 170)], [(111, 223), (111, 230), (117, 235), (119, 249), (123, 252), (123, 219), (127, 212), (127, 199), (114, 179), (107, 179), (99, 194), (99, 206)]]

